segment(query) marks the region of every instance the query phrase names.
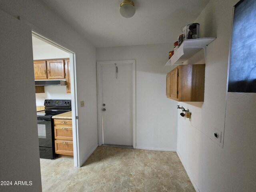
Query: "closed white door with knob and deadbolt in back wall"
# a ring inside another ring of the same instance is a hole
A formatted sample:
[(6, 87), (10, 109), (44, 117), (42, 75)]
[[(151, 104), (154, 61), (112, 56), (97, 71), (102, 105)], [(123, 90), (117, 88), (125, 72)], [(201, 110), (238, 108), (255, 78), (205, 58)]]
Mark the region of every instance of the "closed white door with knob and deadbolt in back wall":
[(103, 144), (132, 146), (132, 63), (102, 65), (101, 85)]

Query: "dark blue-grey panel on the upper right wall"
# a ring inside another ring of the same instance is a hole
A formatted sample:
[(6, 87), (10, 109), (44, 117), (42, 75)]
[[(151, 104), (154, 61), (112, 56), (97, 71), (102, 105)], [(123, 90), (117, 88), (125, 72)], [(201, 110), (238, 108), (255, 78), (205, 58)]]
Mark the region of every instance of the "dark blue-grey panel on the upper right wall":
[(234, 9), (228, 92), (256, 92), (256, 1)]

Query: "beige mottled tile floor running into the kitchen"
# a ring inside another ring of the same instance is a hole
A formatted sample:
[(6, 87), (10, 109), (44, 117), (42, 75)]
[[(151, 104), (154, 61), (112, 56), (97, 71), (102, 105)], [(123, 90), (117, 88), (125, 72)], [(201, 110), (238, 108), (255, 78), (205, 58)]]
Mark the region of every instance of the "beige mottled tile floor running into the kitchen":
[(40, 163), (43, 192), (195, 192), (176, 152), (100, 146), (81, 168), (69, 157)]

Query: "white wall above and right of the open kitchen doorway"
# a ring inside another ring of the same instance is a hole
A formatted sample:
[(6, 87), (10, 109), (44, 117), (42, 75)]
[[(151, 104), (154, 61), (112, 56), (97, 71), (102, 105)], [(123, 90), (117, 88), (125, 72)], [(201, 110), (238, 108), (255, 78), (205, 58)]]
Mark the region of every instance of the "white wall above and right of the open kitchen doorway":
[[(20, 16), (34, 31), (76, 53), (77, 99), (78, 103), (85, 101), (85, 107), (78, 107), (79, 159), (84, 162), (98, 144), (94, 46), (39, 0), (2, 0), (0, 8), (13, 16)], [(27, 75), (33, 76), (32, 73)], [(19, 94), (25, 97), (25, 93)], [(29, 139), (30, 135), (27, 137)]]

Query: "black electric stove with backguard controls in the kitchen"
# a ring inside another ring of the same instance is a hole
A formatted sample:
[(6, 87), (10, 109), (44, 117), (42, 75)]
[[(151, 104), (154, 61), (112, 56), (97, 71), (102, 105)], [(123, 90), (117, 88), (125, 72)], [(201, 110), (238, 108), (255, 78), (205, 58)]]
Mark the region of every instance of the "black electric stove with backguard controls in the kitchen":
[(54, 159), (54, 125), (52, 116), (71, 111), (71, 100), (44, 100), (45, 110), (37, 112), (40, 158)]

